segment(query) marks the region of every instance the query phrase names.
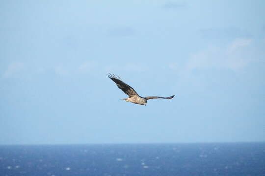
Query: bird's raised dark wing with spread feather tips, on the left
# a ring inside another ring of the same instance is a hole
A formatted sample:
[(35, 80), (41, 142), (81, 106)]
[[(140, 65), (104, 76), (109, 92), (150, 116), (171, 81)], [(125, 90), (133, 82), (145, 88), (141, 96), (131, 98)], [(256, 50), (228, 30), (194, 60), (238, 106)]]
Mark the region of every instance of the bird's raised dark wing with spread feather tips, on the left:
[(116, 77), (114, 74), (108, 74), (107, 75), (112, 81), (114, 81), (118, 88), (122, 89), (122, 91), (124, 91), (124, 93), (126, 93), (127, 95), (129, 95), (129, 97), (133, 97), (135, 95), (139, 96), (136, 91), (129, 86), (128, 84), (124, 83), (120, 77)]

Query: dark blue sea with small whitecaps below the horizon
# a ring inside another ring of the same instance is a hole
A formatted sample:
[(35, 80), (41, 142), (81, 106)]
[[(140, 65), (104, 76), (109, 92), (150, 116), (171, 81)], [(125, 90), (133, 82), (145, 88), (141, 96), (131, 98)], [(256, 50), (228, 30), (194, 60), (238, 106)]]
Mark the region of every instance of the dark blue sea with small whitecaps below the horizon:
[(265, 143), (0, 146), (0, 176), (265, 176)]

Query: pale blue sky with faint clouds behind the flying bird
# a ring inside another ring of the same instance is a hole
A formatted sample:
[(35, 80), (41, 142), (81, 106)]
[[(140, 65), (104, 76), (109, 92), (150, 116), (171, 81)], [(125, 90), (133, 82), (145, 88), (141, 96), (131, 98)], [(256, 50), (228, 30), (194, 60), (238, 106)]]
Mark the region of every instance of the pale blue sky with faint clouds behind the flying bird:
[(0, 24), (0, 145), (265, 141), (264, 0), (1, 0)]

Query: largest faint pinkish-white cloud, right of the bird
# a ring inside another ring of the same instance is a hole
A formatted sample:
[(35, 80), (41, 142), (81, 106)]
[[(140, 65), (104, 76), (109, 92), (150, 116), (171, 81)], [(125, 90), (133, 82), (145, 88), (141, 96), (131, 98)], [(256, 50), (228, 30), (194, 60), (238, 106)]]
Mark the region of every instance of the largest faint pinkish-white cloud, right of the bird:
[(225, 47), (210, 46), (206, 50), (191, 54), (186, 69), (215, 67), (238, 71), (255, 60), (252, 52), (252, 40), (237, 39)]

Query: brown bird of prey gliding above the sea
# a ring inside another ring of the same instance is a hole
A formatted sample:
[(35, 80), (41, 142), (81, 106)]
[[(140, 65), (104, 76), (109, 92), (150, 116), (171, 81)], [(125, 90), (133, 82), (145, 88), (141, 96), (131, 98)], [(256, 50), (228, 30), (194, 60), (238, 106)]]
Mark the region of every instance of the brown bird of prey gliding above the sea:
[(124, 83), (120, 77), (116, 77), (114, 74), (110, 74), (110, 73), (107, 76), (117, 84), (118, 88), (120, 88), (122, 91), (124, 91), (124, 93), (129, 95), (128, 98), (120, 98), (120, 100), (125, 100), (127, 102), (129, 101), (129, 102), (139, 104), (139, 105), (146, 105), (147, 100), (149, 99), (153, 99), (153, 98), (171, 99), (175, 96), (175, 95), (172, 95), (170, 97), (159, 97), (159, 96), (141, 97), (131, 86)]

